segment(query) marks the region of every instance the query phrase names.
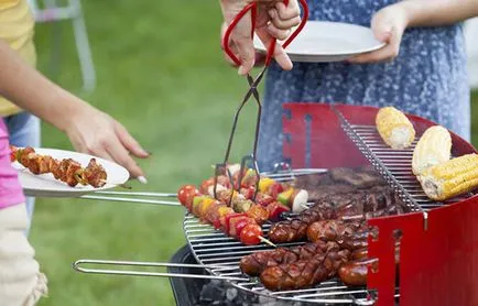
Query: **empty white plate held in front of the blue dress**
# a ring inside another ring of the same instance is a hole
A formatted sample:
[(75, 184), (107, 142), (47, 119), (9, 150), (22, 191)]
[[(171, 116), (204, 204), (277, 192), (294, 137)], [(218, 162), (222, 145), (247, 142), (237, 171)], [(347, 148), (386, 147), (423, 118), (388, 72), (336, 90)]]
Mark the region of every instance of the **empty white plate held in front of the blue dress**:
[[(354, 55), (371, 52), (385, 44), (373, 36), (369, 28), (338, 22), (308, 21), (304, 30), (285, 50), (293, 62), (340, 62)], [(265, 52), (256, 36), (254, 46)]]

